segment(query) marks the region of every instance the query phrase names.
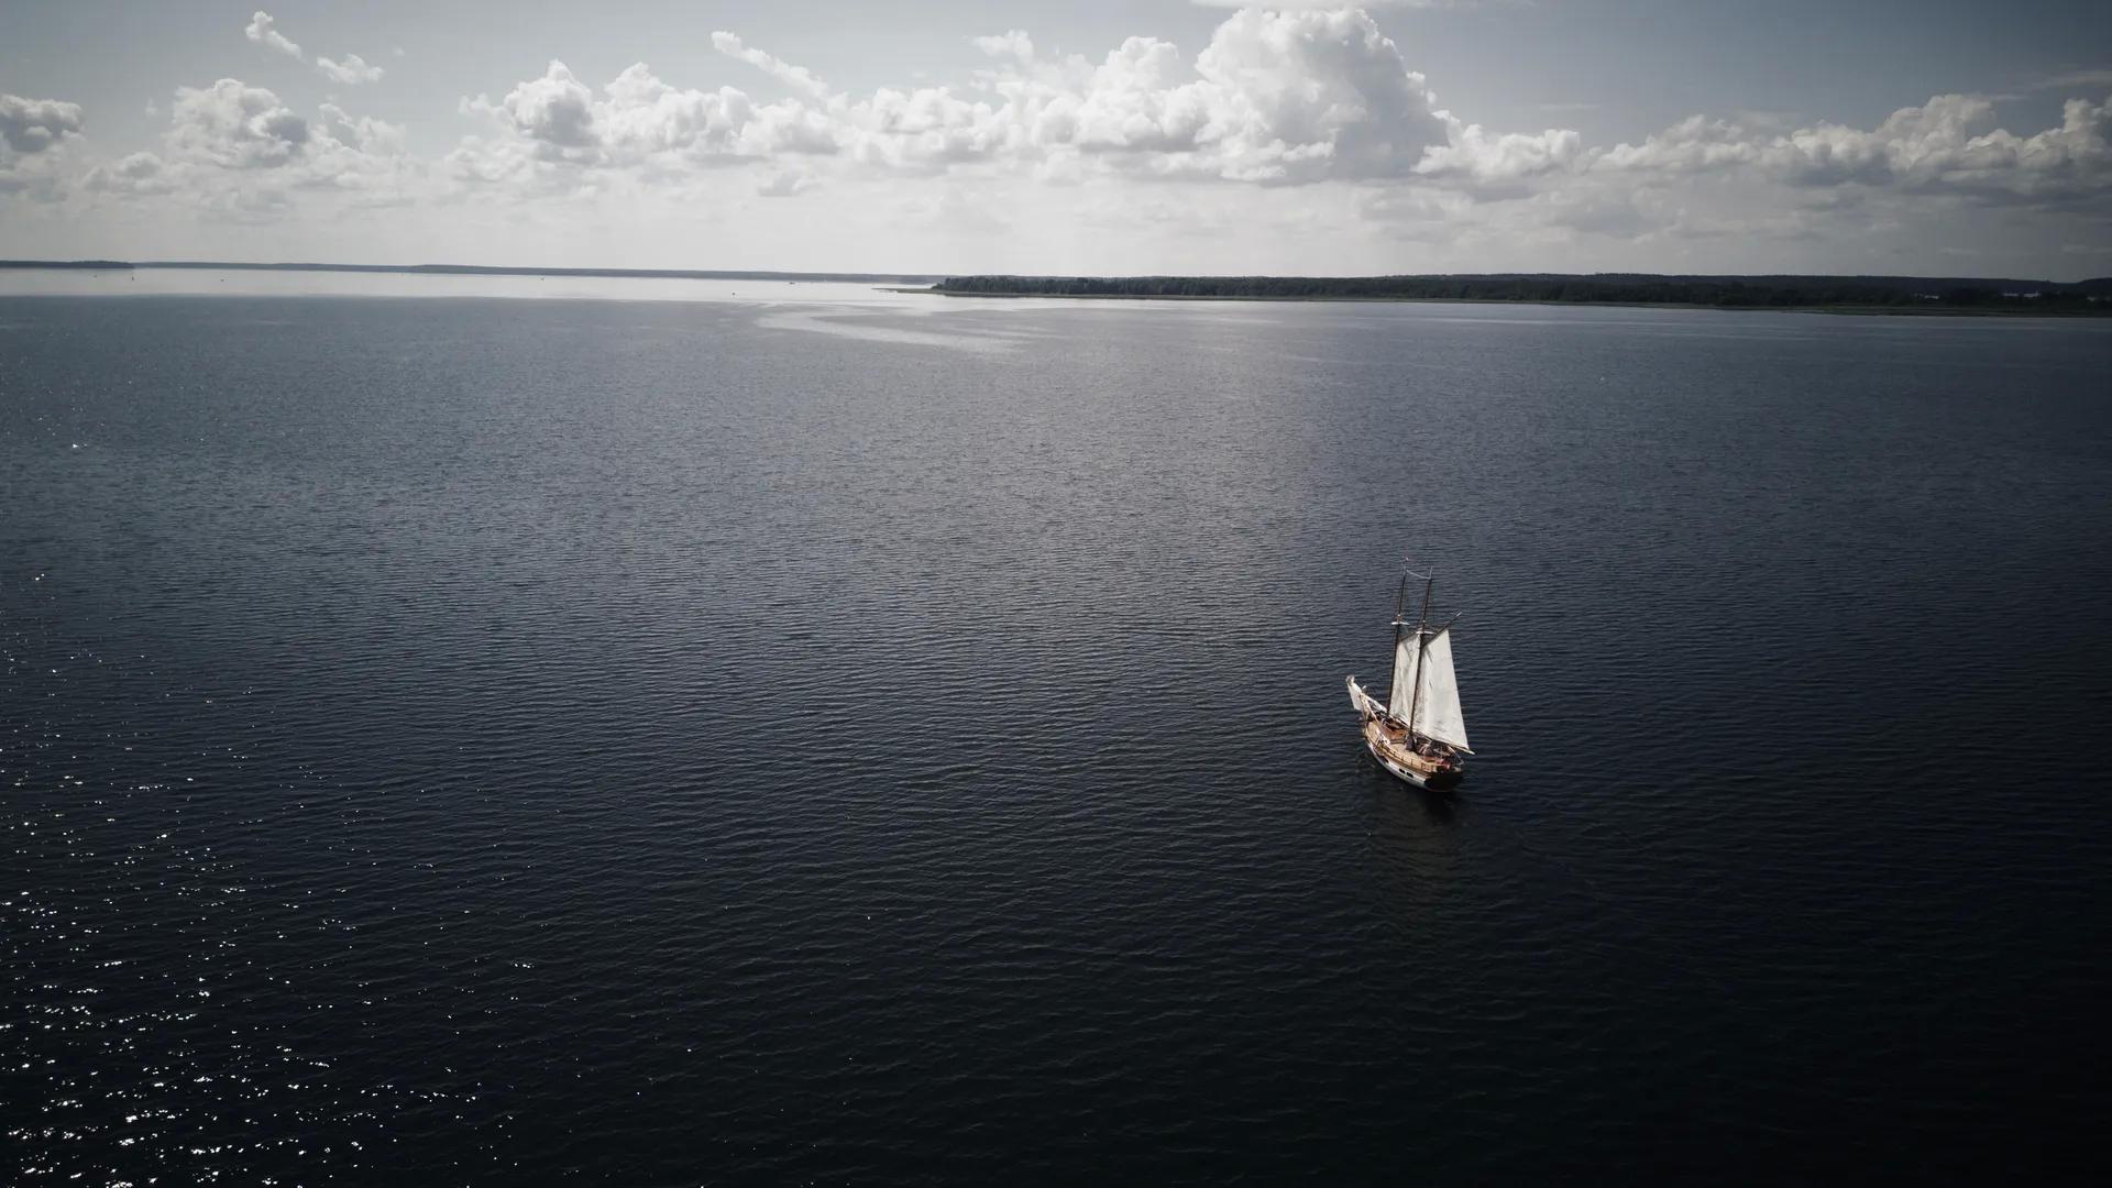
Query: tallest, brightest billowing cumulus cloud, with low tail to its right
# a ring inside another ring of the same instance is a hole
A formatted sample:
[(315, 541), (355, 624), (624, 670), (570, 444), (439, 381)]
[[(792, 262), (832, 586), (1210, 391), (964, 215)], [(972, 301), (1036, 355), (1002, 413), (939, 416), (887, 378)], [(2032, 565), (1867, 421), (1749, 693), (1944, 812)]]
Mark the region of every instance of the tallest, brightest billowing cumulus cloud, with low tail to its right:
[(1440, 110), (1423, 74), (1364, 11), (1246, 8), (1193, 61), (1159, 38), (1128, 38), (1098, 63), (1043, 61), (1018, 30), (976, 47), (1001, 61), (982, 80), (1003, 104), (944, 89), (881, 91), (847, 112), (866, 133), (855, 137), (862, 159), (1010, 154), (1043, 175), (1105, 169), (1309, 184), (1423, 173), (1508, 182), (1578, 154), (1569, 131), (1489, 135)]

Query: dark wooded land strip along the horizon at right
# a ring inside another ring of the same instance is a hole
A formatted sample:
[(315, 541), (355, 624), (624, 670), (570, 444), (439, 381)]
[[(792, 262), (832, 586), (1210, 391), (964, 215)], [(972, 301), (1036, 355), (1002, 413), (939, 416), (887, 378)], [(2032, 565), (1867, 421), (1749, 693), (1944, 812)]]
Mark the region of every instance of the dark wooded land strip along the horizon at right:
[(1702, 304), (1869, 313), (2112, 315), (2112, 277), (1685, 277), (1656, 273), (1457, 273), (1415, 277), (946, 277), (934, 292), (980, 298), (1481, 300)]

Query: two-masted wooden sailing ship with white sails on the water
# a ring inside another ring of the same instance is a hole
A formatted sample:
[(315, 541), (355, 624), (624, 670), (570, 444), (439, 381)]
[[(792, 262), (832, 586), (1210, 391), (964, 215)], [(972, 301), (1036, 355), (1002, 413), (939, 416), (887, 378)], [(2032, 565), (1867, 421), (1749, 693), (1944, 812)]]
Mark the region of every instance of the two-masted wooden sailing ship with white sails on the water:
[[(1423, 583), (1423, 609), (1413, 630), (1407, 619), (1409, 579)], [(1451, 666), (1451, 624), (1430, 626), (1430, 596), (1436, 579), (1404, 571), (1394, 596), (1394, 687), (1385, 702), (1366, 693), (1350, 676), (1350, 704), (1364, 721), (1364, 746), (1381, 767), (1417, 788), (1445, 791), (1466, 776), (1466, 717), (1459, 712), (1459, 679)]]

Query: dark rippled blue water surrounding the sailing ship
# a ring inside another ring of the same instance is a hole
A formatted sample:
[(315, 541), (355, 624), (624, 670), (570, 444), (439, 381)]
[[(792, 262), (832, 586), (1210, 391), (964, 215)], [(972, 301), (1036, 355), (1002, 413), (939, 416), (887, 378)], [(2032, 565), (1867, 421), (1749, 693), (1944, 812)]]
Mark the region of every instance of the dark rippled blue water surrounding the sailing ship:
[[(0, 1177), (2051, 1163), (2108, 374), (2085, 321), (0, 300)], [(1457, 797), (1341, 687), (1404, 552)]]

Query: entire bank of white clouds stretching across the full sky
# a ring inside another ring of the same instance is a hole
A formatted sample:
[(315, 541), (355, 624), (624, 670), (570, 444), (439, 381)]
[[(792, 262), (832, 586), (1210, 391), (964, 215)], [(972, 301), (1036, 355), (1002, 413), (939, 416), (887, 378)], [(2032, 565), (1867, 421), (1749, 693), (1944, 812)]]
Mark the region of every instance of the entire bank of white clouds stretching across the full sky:
[[(268, 13), (245, 36), (310, 61)], [(1464, 252), (1561, 260), (1590, 243), (1656, 254), (1645, 258), (1696, 243), (1856, 243), (1935, 224), (2036, 228), (2089, 254), (2112, 226), (2104, 95), (2021, 131), (2004, 127), (2000, 99), (1947, 93), (1873, 127), (1694, 114), (1590, 144), (1571, 127), (1491, 129), (1451, 110), (1366, 11), (1240, 8), (1193, 51), (1132, 36), (1064, 55), (1026, 30), (965, 40), (980, 55), (965, 78), (870, 91), (735, 32), (710, 36), (727, 70), (703, 82), (646, 63), (596, 82), (551, 59), (496, 97), (463, 97), (467, 129), (422, 154), (401, 127), (239, 78), (175, 89), (161, 144), (108, 156), (76, 144), (76, 104), (8, 95), (0, 178), (36, 201), (285, 222), (374, 205), (536, 218), (562, 203), (699, 218), (699, 203), (769, 199), (860, 218), (891, 209), (904, 226), (1010, 243), (1005, 211), (1033, 209), (1081, 243), (1246, 247), (1271, 226), (1282, 241), (1388, 249), (1394, 268)], [(336, 85), (382, 78), (359, 55), (310, 63)]]

